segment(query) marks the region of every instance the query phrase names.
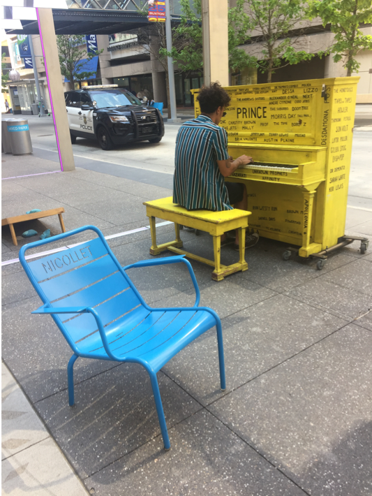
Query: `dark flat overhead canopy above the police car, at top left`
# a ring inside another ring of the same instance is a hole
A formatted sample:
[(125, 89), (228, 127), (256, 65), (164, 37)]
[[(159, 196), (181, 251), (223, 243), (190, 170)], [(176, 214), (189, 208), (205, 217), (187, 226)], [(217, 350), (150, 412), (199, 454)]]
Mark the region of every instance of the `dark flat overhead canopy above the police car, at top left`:
[[(125, 33), (149, 24), (147, 17), (129, 10), (53, 8), (56, 34)], [(6, 34), (39, 34), (36, 20), (21, 20), (23, 29), (6, 29)]]

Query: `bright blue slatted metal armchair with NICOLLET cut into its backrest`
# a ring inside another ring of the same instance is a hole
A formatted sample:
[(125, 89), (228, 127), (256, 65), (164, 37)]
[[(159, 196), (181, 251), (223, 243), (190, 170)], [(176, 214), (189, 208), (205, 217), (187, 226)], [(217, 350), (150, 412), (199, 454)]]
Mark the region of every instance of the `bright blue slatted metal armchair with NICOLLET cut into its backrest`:
[[(98, 238), (27, 262), (27, 250), (70, 238), (82, 231)], [(163, 435), (170, 448), (156, 372), (181, 349), (216, 326), (221, 389), (225, 365), (221, 321), (210, 308), (198, 307), (200, 291), (191, 264), (184, 256), (144, 260), (122, 268), (101, 231), (84, 226), (53, 238), (25, 245), (20, 262), (44, 305), (32, 312), (48, 314), (73, 350), (68, 367), (68, 400), (74, 404), (73, 365), (78, 357), (140, 363), (151, 379)], [(196, 293), (195, 305), (186, 308), (151, 308), (126, 274), (131, 268), (186, 263)]]

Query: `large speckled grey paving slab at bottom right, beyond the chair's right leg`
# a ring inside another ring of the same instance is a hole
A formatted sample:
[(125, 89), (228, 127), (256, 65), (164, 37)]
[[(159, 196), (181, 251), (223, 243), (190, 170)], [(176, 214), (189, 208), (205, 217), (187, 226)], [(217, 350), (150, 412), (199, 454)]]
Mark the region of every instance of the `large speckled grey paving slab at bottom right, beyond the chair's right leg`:
[(371, 349), (350, 324), (209, 409), (307, 494), (370, 494)]

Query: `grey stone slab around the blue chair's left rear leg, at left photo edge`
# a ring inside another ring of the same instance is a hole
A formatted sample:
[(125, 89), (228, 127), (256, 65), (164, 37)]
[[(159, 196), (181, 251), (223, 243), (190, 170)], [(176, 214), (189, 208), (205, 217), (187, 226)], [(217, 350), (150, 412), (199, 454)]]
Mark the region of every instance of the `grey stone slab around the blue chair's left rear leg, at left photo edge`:
[[(34, 296), (2, 308), (2, 356), (32, 402), (67, 388), (67, 364), (73, 354), (50, 316), (31, 315), (40, 307)], [(80, 358), (75, 384), (117, 366), (116, 362)]]

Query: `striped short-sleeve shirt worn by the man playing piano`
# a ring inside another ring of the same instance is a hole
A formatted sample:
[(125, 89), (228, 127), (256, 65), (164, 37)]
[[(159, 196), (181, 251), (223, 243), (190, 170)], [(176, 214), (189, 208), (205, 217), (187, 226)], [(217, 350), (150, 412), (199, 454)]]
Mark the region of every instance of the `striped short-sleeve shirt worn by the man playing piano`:
[(177, 134), (173, 202), (187, 210), (231, 210), (225, 178), (217, 160), (226, 160), (228, 133), (200, 115)]

